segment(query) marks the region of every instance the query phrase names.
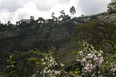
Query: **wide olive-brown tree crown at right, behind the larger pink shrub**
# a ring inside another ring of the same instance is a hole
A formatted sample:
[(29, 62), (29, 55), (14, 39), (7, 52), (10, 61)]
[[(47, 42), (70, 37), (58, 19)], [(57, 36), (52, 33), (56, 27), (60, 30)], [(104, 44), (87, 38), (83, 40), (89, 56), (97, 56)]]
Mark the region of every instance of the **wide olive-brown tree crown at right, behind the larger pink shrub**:
[(115, 21), (103, 22), (91, 20), (76, 28), (76, 40), (86, 41), (97, 50), (115, 52), (116, 50), (116, 24)]

